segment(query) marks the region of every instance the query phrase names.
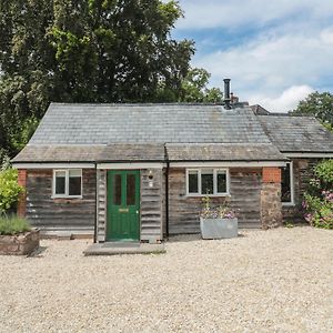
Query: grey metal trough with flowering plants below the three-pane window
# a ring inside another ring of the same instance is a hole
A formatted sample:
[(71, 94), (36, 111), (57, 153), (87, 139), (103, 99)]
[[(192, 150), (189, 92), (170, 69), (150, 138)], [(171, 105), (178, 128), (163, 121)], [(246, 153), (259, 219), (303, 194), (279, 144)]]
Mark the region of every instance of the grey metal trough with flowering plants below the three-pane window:
[(235, 211), (228, 204), (211, 208), (210, 198), (203, 199), (203, 209), (200, 213), (200, 230), (202, 239), (219, 240), (236, 238), (239, 223)]

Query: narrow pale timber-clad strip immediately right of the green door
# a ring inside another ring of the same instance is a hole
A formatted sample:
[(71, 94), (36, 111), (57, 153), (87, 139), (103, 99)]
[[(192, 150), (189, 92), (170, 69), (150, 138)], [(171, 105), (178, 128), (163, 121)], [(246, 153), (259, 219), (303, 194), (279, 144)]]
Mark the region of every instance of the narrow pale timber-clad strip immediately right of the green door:
[[(151, 180), (149, 179), (150, 171)], [(141, 241), (154, 242), (163, 238), (162, 184), (162, 169), (141, 170)]]

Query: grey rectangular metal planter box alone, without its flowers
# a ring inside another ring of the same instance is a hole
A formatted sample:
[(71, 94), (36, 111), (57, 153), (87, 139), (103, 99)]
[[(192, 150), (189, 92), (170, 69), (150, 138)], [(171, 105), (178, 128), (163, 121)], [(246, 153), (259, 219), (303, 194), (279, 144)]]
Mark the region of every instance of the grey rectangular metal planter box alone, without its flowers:
[(204, 240), (236, 238), (239, 220), (235, 219), (202, 219), (200, 218), (201, 235)]

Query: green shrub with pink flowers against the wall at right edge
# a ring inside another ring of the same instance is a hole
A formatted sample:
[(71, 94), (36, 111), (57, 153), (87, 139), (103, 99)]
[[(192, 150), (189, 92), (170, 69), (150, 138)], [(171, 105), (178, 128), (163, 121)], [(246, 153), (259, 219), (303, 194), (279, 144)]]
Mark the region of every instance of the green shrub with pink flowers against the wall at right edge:
[(333, 229), (333, 160), (322, 161), (314, 168), (303, 208), (311, 225)]

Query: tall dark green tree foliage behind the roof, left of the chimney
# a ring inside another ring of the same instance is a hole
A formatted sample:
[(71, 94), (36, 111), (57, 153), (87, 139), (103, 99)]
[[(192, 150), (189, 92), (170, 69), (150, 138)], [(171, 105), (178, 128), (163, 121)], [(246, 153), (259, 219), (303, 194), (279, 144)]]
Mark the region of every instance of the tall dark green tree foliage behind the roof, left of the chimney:
[[(18, 152), (50, 101), (216, 101), (171, 37), (174, 0), (0, 0), (0, 151)], [(190, 72), (189, 72), (190, 71)]]

